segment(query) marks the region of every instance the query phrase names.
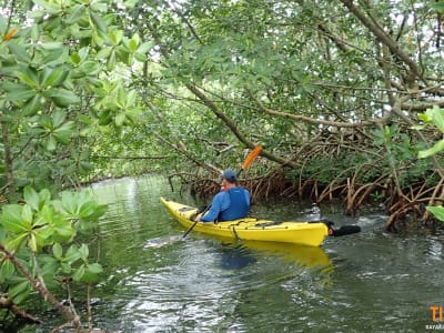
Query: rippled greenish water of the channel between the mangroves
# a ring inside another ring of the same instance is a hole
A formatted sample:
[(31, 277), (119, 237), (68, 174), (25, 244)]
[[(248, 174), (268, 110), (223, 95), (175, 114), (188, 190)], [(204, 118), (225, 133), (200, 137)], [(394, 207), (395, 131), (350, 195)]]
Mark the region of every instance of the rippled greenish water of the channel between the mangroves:
[[(444, 306), (444, 233), (385, 234), (385, 216), (379, 210), (351, 219), (339, 205), (275, 202), (252, 208), (262, 218), (322, 215), (335, 221), (336, 228), (362, 226), (361, 233), (330, 238), (319, 249), (226, 243), (193, 232), (171, 242), (184, 229), (159, 198), (203, 202), (172, 192), (165, 180), (151, 176), (107, 181), (94, 184), (93, 191), (109, 205), (95, 249), (105, 268), (103, 282), (92, 291), (95, 327), (426, 332), (433, 331), (430, 307)], [(48, 332), (62, 323), (51, 311), (44, 315), (43, 325), (23, 332)]]

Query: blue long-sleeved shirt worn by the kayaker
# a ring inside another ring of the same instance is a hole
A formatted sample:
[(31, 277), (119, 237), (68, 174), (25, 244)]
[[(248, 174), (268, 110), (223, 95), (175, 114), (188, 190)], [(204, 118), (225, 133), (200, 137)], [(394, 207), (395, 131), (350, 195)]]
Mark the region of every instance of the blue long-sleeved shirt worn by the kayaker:
[(245, 218), (250, 209), (250, 192), (244, 188), (231, 188), (214, 195), (210, 211), (202, 222), (231, 221)]

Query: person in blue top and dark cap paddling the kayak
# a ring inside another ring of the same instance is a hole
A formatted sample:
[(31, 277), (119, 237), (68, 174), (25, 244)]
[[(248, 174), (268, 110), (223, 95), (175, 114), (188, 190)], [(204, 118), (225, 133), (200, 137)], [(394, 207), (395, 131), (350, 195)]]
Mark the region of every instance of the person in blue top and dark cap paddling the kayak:
[(243, 219), (250, 210), (250, 192), (238, 186), (238, 174), (226, 169), (222, 175), (222, 191), (214, 195), (210, 210), (198, 215), (198, 222), (221, 222)]

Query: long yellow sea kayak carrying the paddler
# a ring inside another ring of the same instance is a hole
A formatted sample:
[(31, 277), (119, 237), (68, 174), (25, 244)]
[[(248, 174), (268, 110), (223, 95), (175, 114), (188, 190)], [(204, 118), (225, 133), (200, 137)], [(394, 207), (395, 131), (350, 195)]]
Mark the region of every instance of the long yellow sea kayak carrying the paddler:
[[(170, 214), (183, 226), (190, 228), (194, 224), (193, 218), (198, 213), (198, 208), (164, 198), (160, 200)], [(193, 230), (226, 239), (294, 243), (310, 246), (320, 246), (329, 235), (329, 226), (322, 221), (282, 222), (250, 216), (218, 223), (198, 222)]]

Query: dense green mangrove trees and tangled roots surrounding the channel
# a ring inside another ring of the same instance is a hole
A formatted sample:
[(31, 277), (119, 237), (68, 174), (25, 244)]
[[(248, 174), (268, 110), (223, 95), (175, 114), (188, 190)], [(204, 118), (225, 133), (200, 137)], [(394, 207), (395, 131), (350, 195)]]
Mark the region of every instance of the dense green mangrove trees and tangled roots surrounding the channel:
[(204, 192), (256, 144), (255, 195), (349, 213), (377, 200), (387, 229), (426, 222), (444, 195), (443, 14), (442, 0), (4, 1), (0, 300), (100, 272), (75, 242), (103, 209), (60, 191), (167, 171)]

